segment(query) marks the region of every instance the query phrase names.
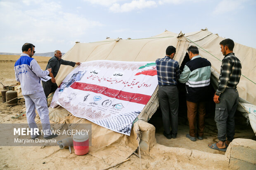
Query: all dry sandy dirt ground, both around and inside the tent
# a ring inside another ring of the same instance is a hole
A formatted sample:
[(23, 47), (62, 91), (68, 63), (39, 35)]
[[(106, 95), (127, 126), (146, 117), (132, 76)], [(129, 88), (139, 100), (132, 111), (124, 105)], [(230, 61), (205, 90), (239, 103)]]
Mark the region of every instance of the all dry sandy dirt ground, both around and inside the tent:
[[(14, 63), (19, 56), (0, 55), (0, 82), (4, 85), (17, 84), (14, 76)], [(35, 57), (40, 67), (44, 70), (49, 57)], [(2, 89), (2, 88), (1, 88)], [(2, 101), (2, 98), (0, 98)], [(0, 123), (26, 123), (26, 114), (18, 119), (12, 119), (26, 111), (24, 100), (19, 100), (18, 105), (7, 107), (0, 103)], [(38, 118), (36, 118), (38, 120)], [(186, 149), (197, 149), (214, 154), (225, 154), (222, 151), (209, 149), (207, 144), (218, 142), (217, 128), (214, 122), (214, 108), (210, 106), (206, 115), (206, 128), (204, 140), (192, 142), (185, 137), (189, 131), (186, 118), (185, 105), (180, 106), (178, 136), (176, 139), (166, 139), (163, 133), (161, 123), (161, 112), (158, 110), (149, 123), (156, 127), (156, 142), (168, 147), (181, 147)], [(239, 112), (236, 113), (236, 129), (235, 138), (249, 138), (256, 140), (250, 125), (246, 124), (246, 119)], [(166, 161), (167, 160), (167, 161)], [(175, 166), (174, 166), (175, 164)], [(104, 160), (96, 158), (90, 154), (85, 156), (76, 156), (72, 148), (72, 154), (67, 149), (59, 149), (59, 147), (3, 147), (0, 146), (0, 169), (104, 169), (109, 165)], [(177, 159), (166, 159), (166, 156), (158, 153), (150, 153), (142, 155), (142, 169), (202, 169), (203, 166)], [(132, 154), (130, 160), (117, 166), (115, 169), (140, 169), (140, 160)], [(219, 169), (208, 168), (204, 169)], [(221, 169), (221, 168), (220, 168)]]

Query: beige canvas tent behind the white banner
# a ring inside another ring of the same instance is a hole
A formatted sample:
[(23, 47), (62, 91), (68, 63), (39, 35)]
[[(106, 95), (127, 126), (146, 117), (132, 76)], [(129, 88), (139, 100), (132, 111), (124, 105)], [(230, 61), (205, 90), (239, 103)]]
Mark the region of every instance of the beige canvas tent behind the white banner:
[[(219, 37), (217, 34), (209, 32), (207, 29), (200, 30), (194, 33), (172, 33), (165, 31), (159, 35), (141, 38), (141, 39), (106, 39), (100, 42), (92, 43), (80, 43), (77, 42), (64, 56), (64, 60), (68, 61), (94, 61), (94, 60), (112, 60), (112, 61), (152, 61), (157, 58), (165, 56), (166, 47), (173, 45), (176, 47), (176, 54), (174, 59), (181, 63), (190, 45), (195, 45), (199, 48), (200, 56), (209, 60), (212, 64), (212, 78), (211, 83), (216, 87), (217, 80), (220, 73), (221, 60), (223, 55), (220, 51), (219, 42), (223, 40), (223, 37)], [(237, 86), (241, 102), (251, 103), (256, 105), (256, 49), (244, 46), (242, 44), (235, 43), (234, 48), (235, 55), (242, 62), (242, 77)], [(62, 65), (59, 69), (59, 73), (56, 77), (56, 82), (59, 85), (66, 75), (71, 72), (73, 68), (70, 66)], [(156, 88), (151, 99), (147, 103), (146, 107), (142, 110), (138, 119), (148, 121), (159, 106), (159, 100), (157, 97), (158, 88)], [(56, 122), (76, 122), (69, 120), (66, 117), (67, 113), (62, 108), (60, 112), (55, 111), (56, 114), (52, 114), (50, 117)], [(60, 114), (62, 113), (62, 114)], [(64, 113), (64, 114), (63, 114)], [(256, 117), (256, 116), (254, 116)], [(72, 118), (73, 119), (73, 118)], [(256, 122), (255, 122), (256, 124)], [(92, 128), (97, 128), (97, 125), (93, 125)], [(125, 135), (111, 132), (111, 130), (102, 130), (101, 134), (107, 135), (107, 137), (114, 138), (111, 141), (101, 142), (100, 144), (94, 143), (95, 149), (103, 151), (104, 146), (109, 146), (111, 143), (123, 142), (121, 145), (126, 145), (123, 150), (128, 148), (128, 152), (137, 148), (135, 130), (132, 130), (130, 139)], [(95, 134), (97, 141), (104, 141), (104, 135)], [(117, 135), (117, 136), (116, 136)], [(93, 142), (93, 141), (92, 141)], [(96, 140), (95, 140), (96, 142)], [(130, 145), (128, 144), (130, 142)], [(100, 148), (100, 149), (99, 149)], [(119, 149), (117, 149), (119, 150)], [(116, 151), (117, 151), (116, 150)], [(111, 153), (113, 150), (111, 150)], [(95, 152), (99, 154), (100, 152)], [(118, 153), (118, 152), (116, 152)], [(102, 154), (104, 155), (104, 154)], [(116, 155), (118, 157), (118, 155)], [(119, 155), (120, 157), (120, 155)]]

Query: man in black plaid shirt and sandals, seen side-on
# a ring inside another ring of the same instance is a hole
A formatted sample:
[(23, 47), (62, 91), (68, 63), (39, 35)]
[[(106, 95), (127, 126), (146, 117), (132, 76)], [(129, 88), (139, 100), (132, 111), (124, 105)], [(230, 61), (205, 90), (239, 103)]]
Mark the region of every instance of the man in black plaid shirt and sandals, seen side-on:
[(220, 42), (221, 52), (225, 57), (220, 68), (218, 89), (213, 97), (216, 103), (215, 121), (219, 142), (208, 145), (211, 149), (220, 151), (227, 150), (235, 135), (235, 111), (239, 98), (237, 84), (241, 77), (242, 65), (233, 53), (234, 46), (235, 43), (230, 39)]

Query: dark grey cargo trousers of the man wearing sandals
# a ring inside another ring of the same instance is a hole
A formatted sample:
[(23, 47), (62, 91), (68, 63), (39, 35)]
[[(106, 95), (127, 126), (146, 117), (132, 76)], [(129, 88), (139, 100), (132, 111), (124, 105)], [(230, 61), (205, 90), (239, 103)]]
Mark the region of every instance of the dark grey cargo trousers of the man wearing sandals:
[(220, 94), (220, 103), (215, 107), (215, 122), (218, 128), (218, 139), (232, 142), (235, 135), (235, 111), (237, 110), (239, 94), (235, 88), (226, 88)]

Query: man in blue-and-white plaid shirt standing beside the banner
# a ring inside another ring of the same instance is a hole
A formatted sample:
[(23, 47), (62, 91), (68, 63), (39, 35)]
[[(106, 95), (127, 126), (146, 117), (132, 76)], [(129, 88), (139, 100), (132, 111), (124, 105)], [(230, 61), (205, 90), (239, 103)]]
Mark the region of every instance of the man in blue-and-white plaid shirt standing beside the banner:
[[(176, 138), (178, 132), (177, 79), (180, 78), (180, 66), (178, 61), (173, 60), (175, 52), (175, 47), (169, 46), (166, 49), (166, 56), (156, 60), (159, 104), (163, 117), (164, 136), (167, 139)], [(172, 130), (170, 130), (170, 114)]]

